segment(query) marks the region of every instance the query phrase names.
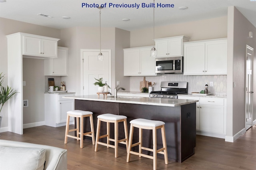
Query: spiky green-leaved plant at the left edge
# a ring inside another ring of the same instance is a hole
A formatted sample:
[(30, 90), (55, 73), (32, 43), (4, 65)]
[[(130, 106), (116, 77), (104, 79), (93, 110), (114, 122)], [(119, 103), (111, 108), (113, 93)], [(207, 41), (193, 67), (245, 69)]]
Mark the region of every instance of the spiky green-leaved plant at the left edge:
[[(4, 75), (2, 75), (2, 73), (0, 73), (0, 105), (1, 105), (0, 113), (2, 111), (4, 103), (6, 103), (6, 101), (11, 99), (13, 95), (18, 93), (16, 90), (12, 89), (9, 86), (7, 86), (7, 87), (2, 86), (3, 81), (4, 81)], [(1, 127), (2, 117), (3, 117), (3, 115), (0, 116), (0, 127)]]

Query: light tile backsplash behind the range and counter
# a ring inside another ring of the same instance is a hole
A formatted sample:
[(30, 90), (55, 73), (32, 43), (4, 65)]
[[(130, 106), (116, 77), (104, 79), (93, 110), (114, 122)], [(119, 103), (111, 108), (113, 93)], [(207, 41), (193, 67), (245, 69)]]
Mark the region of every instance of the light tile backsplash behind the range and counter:
[[(140, 81), (144, 76), (130, 77), (130, 91), (140, 91)], [(208, 93), (226, 95), (227, 75), (183, 75), (183, 74), (162, 74), (158, 76), (145, 76), (146, 81), (155, 82), (153, 91), (160, 91), (161, 81), (186, 81), (188, 82), (188, 93), (204, 90), (205, 83), (208, 84)], [(210, 87), (210, 81), (213, 87)]]

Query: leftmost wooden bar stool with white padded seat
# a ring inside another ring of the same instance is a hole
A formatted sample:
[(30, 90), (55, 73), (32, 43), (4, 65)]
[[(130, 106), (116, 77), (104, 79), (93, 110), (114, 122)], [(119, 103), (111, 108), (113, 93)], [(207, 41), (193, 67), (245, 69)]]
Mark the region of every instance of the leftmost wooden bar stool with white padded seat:
[[(70, 117), (76, 118), (76, 128), (69, 130), (69, 120)], [(84, 117), (90, 118), (90, 127), (91, 131), (84, 133)], [(80, 118), (80, 121), (79, 121)], [(76, 131), (76, 136), (69, 135), (68, 132)], [(79, 136), (80, 135), (80, 136)], [(67, 112), (67, 123), (66, 123), (66, 132), (65, 132), (65, 141), (64, 144), (67, 143), (68, 137), (75, 138), (80, 140), (80, 148), (83, 148), (84, 143), (84, 136), (92, 137), (92, 144), (95, 144), (95, 137), (94, 137), (94, 127), (93, 127), (93, 120), (92, 120), (92, 112), (90, 111), (68, 111)]]

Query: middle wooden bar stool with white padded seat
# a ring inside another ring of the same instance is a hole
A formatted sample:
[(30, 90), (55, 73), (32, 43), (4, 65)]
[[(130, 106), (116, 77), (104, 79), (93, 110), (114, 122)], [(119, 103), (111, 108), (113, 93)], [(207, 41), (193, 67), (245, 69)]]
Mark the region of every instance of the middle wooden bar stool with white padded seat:
[[(113, 114), (103, 114), (99, 115), (97, 121), (97, 131), (96, 131), (96, 145), (95, 145), (95, 152), (98, 150), (98, 144), (111, 147), (115, 149), (115, 158), (118, 157), (118, 143), (122, 143), (126, 145), (126, 152), (128, 149), (128, 128), (127, 128), (127, 117), (122, 115), (113, 115)], [(101, 122), (107, 123), (107, 134), (104, 134), (100, 136), (100, 123)], [(123, 122), (124, 123), (124, 135), (125, 138), (118, 140), (118, 123)], [(110, 138), (110, 123), (114, 123), (114, 139)], [(107, 142), (99, 142), (100, 138), (107, 138)], [(114, 145), (109, 144), (109, 141), (115, 142)]]

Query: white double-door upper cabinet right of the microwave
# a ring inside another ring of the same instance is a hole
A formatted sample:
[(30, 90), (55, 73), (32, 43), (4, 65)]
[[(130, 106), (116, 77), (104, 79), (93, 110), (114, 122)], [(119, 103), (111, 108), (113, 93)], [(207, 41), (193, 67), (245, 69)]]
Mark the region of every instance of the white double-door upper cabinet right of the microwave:
[(184, 43), (184, 75), (227, 74), (227, 39)]

